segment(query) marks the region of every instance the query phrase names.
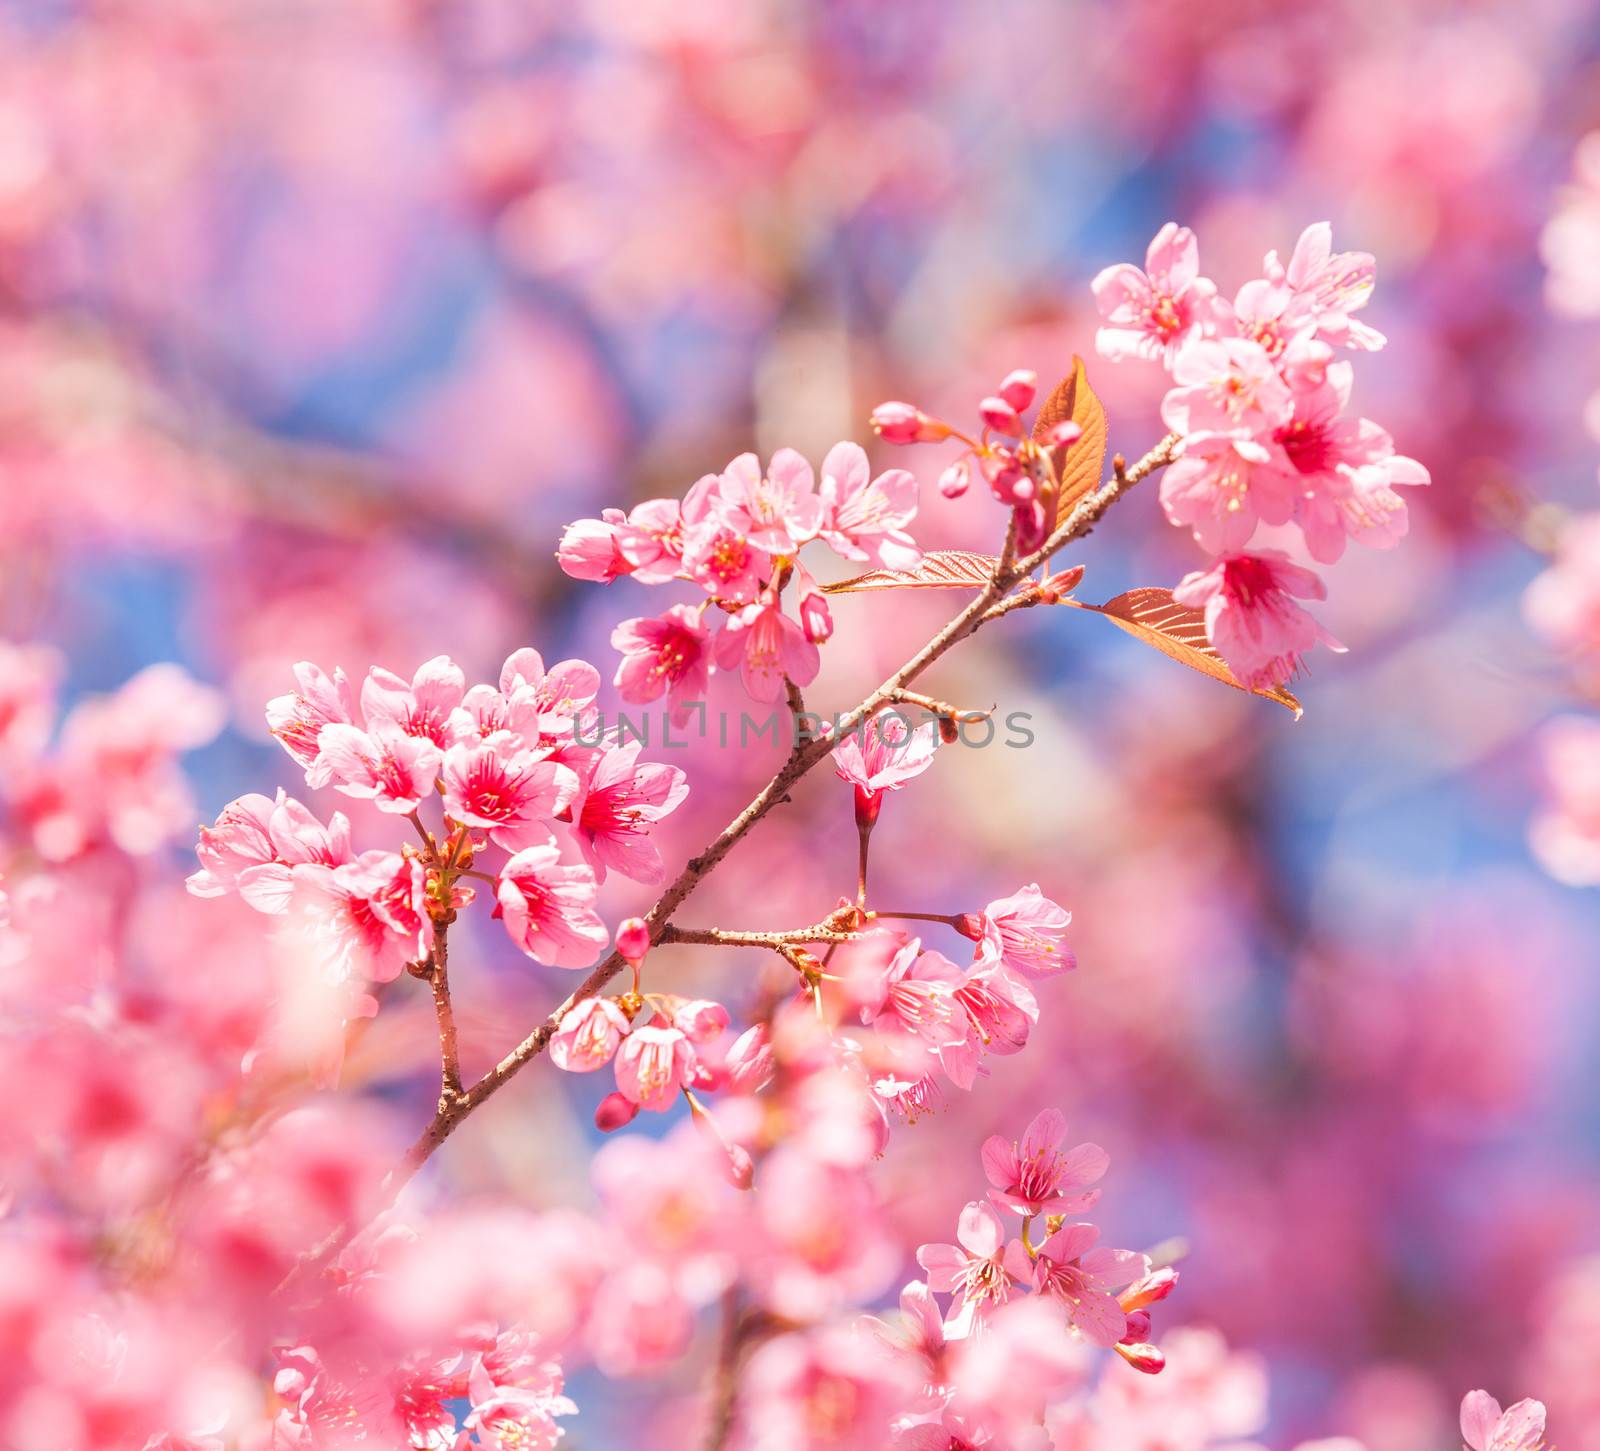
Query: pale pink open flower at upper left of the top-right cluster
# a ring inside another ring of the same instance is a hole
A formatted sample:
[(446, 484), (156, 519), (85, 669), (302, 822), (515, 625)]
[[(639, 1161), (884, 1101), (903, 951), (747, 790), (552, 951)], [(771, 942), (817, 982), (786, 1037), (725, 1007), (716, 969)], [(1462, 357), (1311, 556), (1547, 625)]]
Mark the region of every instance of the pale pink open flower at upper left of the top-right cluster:
[(1200, 275), (1194, 232), (1168, 222), (1144, 254), (1144, 270), (1118, 262), (1091, 283), (1094, 304), (1112, 326), (1094, 334), (1104, 358), (1157, 358), (1171, 366), (1178, 349), (1214, 317), (1216, 283)]

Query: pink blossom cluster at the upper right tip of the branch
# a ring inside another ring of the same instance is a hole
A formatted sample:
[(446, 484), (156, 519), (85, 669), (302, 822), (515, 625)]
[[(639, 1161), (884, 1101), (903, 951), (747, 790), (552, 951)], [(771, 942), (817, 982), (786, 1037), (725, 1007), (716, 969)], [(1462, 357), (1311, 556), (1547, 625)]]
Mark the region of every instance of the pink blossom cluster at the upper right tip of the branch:
[(1168, 222), (1142, 269), (1094, 278), (1107, 358), (1154, 358), (1173, 387), (1162, 421), (1181, 456), (1162, 480), (1162, 507), (1216, 555), (1173, 597), (1203, 610), (1211, 643), (1251, 686), (1282, 686), (1306, 651), (1338, 643), (1296, 600), (1322, 598), (1317, 576), (1282, 549), (1251, 547), (1262, 526), (1298, 531), (1333, 563), (1354, 539), (1392, 547), (1406, 530), (1400, 486), (1429, 482), (1390, 435), (1350, 414), (1354, 366), (1381, 333), (1355, 317), (1373, 293), (1373, 259), (1336, 253), (1326, 222), (1307, 227), (1288, 262), (1267, 253), (1262, 275), (1234, 299), (1200, 275), (1187, 227)]

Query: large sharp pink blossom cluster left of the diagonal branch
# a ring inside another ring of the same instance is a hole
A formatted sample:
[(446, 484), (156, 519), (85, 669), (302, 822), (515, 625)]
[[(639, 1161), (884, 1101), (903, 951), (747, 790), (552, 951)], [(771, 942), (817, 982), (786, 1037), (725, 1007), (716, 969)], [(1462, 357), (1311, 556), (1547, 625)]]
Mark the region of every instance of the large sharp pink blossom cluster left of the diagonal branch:
[[(421, 846), (357, 851), (350, 822), (326, 822), (283, 792), (226, 806), (200, 833), (198, 896), (237, 891), (290, 918), (341, 982), (386, 982), (427, 957), (435, 925), (488, 881), (512, 941), (534, 961), (589, 966), (610, 941), (595, 910), (608, 872), (664, 875), (650, 840), (685, 798), (683, 771), (642, 761), (637, 741), (587, 741), (600, 675), (584, 661), (546, 670), (518, 650), (498, 685), (467, 686), (446, 656), (406, 682), (373, 667), (360, 696), (342, 670), (294, 667), (296, 690), (267, 706), (272, 734), (304, 768), (379, 813), (413, 817)], [(443, 832), (418, 814), (438, 798)], [(475, 867), (504, 854), (491, 877)]]

